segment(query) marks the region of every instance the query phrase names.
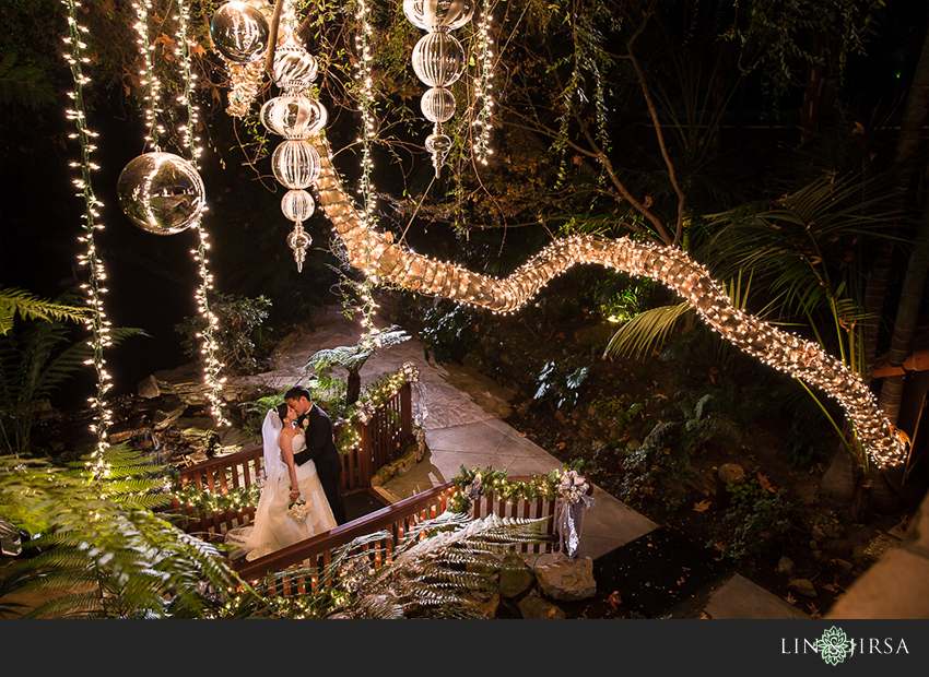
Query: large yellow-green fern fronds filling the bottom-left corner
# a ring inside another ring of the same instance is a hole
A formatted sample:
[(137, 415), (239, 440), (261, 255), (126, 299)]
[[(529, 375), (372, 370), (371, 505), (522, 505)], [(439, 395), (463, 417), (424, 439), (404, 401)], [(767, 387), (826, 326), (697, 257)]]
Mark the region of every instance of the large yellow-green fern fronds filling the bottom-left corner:
[(26, 549), (37, 553), (7, 568), (4, 590), (52, 593), (35, 608), (8, 607), (4, 615), (204, 618), (215, 613), (204, 586), (248, 590), (213, 546), (151, 512), (143, 496), (157, 496), (157, 467), (116, 448), (105, 461), (113, 475), (96, 480), (84, 465), (0, 456), (0, 513), (34, 534)]

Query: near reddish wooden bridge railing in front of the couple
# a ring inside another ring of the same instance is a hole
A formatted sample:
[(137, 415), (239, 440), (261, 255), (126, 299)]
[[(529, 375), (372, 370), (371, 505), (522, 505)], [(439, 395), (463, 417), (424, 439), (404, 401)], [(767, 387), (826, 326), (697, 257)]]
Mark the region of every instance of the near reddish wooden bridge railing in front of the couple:
[[(527, 478), (513, 477), (510, 479)], [(390, 561), (393, 550), (412, 526), (436, 518), (446, 510), (454, 491), (455, 485), (447, 482), (354, 520), (349, 524), (337, 526), (325, 534), (317, 534), (311, 538), (250, 562), (239, 561), (234, 567), (243, 580), (251, 583), (270, 573), (295, 568), (293, 575), (281, 577), (274, 581), (273, 587), (268, 591), (268, 594), (280, 596), (306, 594), (318, 586), (319, 574), (332, 561), (332, 553), (360, 536), (367, 536), (380, 531), (386, 532), (384, 537), (366, 541), (364, 545), (360, 546), (360, 551), (371, 554), (368, 561), (374, 569), (383, 567)], [(548, 518), (542, 527), (542, 539), (539, 543), (520, 544), (518, 550), (543, 553), (551, 551), (554, 547), (554, 500), (527, 499), (508, 504), (502, 499), (495, 500), (493, 495), (487, 495), (475, 501), (471, 509), (471, 515), (475, 519), (485, 518), (492, 512), (498, 516)]]

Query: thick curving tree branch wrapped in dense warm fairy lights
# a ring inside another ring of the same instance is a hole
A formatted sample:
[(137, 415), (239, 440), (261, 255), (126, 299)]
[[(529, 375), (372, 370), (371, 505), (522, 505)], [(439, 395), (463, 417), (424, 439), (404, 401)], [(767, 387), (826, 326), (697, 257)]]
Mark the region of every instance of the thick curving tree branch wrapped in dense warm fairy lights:
[(315, 143), (321, 161), (317, 181), (319, 204), (342, 240), (349, 263), (366, 276), (502, 313), (518, 310), (552, 278), (580, 263), (650, 277), (687, 300), (714, 331), (737, 347), (835, 399), (866, 452), (879, 466), (904, 458), (906, 442), (857, 373), (818, 344), (734, 308), (725, 287), (684, 251), (627, 237), (608, 240), (578, 235), (552, 242), (505, 280), (473, 273), (404, 250), (393, 245), (391, 238), (366, 227), (332, 166), (327, 140), (319, 136)]

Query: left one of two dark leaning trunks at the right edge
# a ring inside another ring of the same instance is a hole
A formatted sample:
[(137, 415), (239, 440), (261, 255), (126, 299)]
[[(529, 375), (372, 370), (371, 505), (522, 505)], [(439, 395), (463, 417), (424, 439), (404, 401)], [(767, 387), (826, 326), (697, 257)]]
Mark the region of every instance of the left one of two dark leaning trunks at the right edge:
[[(919, 62), (916, 64), (896, 142), (894, 164), (898, 173), (896, 191), (899, 207), (905, 206), (916, 157), (921, 152), (922, 126), (926, 123), (927, 111), (929, 111), (929, 29), (924, 38)], [(896, 230), (896, 224), (887, 224), (889, 236), (895, 235)], [(878, 242), (865, 292), (865, 309), (869, 318), (865, 330), (865, 349), (869, 365), (874, 361), (878, 354), (878, 336), (886, 301), (893, 251), (894, 244), (889, 238)]]

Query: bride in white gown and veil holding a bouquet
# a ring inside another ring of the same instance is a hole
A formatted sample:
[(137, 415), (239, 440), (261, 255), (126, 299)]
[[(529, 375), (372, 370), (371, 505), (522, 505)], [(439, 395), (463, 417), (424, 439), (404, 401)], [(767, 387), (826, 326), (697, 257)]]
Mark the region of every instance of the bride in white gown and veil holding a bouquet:
[[(261, 427), (266, 479), (255, 510), (255, 524), (232, 530), (225, 539), (245, 550), (249, 561), (336, 526), (316, 464), (313, 461), (294, 464), (294, 452), (306, 443), (295, 420), (296, 412), (281, 404), (268, 412)], [(287, 515), (289, 506), (301, 499), (309, 509), (304, 521)]]

